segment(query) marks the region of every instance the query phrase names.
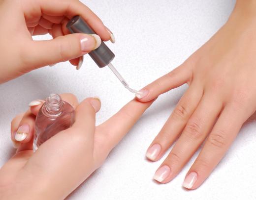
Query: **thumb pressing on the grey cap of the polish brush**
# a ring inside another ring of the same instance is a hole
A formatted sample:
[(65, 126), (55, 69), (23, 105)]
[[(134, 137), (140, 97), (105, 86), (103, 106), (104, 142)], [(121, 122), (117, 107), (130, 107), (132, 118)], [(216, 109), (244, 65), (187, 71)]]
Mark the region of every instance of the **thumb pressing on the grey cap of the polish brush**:
[[(96, 34), (68, 34), (52, 40), (32, 41), (25, 62), (36, 69), (80, 57), (97, 49), (101, 39)], [(27, 65), (27, 66), (28, 66)]]

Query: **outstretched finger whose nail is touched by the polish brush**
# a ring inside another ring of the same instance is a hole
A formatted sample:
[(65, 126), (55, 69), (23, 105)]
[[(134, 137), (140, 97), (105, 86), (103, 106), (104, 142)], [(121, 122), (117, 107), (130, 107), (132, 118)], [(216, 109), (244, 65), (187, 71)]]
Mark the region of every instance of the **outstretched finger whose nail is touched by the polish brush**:
[(153, 100), (160, 94), (188, 83), (191, 78), (191, 66), (189, 62), (185, 62), (170, 73), (147, 85), (139, 91), (140, 93), (136, 94), (136, 97), (142, 102)]

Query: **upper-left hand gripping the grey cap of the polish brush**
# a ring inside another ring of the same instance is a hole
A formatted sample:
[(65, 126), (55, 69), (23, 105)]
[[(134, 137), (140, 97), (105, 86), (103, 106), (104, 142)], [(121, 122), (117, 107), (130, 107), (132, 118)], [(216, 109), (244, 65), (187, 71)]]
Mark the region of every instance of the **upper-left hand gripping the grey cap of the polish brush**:
[[(82, 16), (98, 35), (69, 34), (65, 26), (75, 15)], [(2, 0), (0, 25), (0, 83), (67, 60), (79, 68), (80, 56), (96, 49), (100, 38), (114, 42), (111, 31), (79, 0)], [(32, 35), (47, 33), (54, 39), (32, 40)]]

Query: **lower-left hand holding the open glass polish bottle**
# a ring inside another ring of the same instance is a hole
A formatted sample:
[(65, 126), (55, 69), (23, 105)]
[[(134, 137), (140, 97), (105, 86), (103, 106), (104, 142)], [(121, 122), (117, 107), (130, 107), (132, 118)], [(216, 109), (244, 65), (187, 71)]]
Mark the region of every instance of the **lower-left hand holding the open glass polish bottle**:
[(152, 103), (131, 100), (112, 118), (95, 126), (99, 100), (88, 98), (78, 104), (73, 95), (61, 96), (75, 107), (76, 121), (43, 143), (35, 153), (32, 151), (34, 119), (43, 101), (33, 101), (35, 106), (12, 121), (12, 140), (15, 141), (19, 127), (19, 132), (27, 137), (15, 141), (16, 154), (0, 169), (1, 200), (64, 199), (104, 162)]

